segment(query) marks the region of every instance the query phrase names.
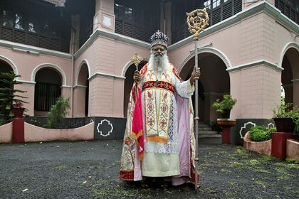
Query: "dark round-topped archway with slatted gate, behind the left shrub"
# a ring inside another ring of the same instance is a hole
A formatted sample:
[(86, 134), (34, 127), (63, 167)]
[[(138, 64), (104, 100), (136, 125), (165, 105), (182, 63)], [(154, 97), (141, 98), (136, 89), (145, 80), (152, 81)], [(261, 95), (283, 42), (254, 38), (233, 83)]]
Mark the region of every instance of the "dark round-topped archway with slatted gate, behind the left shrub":
[(34, 115), (46, 116), (61, 96), (61, 75), (53, 68), (41, 68), (36, 72), (35, 80)]

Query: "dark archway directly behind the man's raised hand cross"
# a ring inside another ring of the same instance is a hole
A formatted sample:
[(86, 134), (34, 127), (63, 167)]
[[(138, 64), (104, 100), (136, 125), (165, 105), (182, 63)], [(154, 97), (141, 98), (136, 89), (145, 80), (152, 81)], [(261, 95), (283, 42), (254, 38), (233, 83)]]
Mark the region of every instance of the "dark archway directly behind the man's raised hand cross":
[[(138, 70), (140, 70), (147, 61), (143, 60), (139, 65), (138, 65)], [(130, 99), (130, 92), (132, 89), (133, 85), (133, 75), (136, 70), (136, 66), (134, 64), (130, 65), (129, 68), (127, 68), (127, 71), (125, 72), (125, 89), (124, 89), (124, 117), (127, 117), (127, 103), (129, 102)]]

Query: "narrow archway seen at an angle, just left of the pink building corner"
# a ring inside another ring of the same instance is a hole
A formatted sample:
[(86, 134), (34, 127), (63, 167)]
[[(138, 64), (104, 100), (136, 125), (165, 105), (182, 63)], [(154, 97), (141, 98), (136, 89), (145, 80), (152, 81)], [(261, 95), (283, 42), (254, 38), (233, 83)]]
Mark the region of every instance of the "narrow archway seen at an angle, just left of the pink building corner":
[(83, 63), (80, 67), (77, 87), (75, 88), (75, 116), (88, 117), (89, 100), (89, 72), (88, 65)]

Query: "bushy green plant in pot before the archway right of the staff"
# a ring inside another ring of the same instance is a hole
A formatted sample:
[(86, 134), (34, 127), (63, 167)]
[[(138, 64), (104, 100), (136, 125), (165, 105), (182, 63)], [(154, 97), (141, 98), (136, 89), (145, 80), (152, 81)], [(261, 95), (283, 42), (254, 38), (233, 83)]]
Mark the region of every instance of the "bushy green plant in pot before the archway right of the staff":
[(212, 107), (216, 109), (216, 112), (221, 114), (222, 118), (229, 118), (231, 109), (236, 104), (236, 99), (232, 98), (231, 95), (224, 95), (224, 99), (216, 99), (216, 102), (212, 104)]

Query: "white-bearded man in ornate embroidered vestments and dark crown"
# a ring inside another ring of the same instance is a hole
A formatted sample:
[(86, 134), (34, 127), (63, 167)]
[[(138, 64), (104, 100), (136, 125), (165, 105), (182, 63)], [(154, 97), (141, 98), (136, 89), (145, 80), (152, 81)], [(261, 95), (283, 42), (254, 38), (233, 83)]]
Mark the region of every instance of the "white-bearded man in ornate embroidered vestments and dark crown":
[[(120, 179), (141, 181), (150, 177), (179, 185), (194, 182), (194, 129), (191, 96), (199, 70), (182, 81), (167, 57), (168, 38), (157, 31), (150, 38), (150, 61), (134, 74), (122, 148)], [(136, 85), (141, 91), (142, 142), (132, 135)], [(142, 157), (140, 151), (144, 150)], [(161, 178), (160, 178), (161, 177)], [(198, 179), (199, 180), (199, 179)]]

